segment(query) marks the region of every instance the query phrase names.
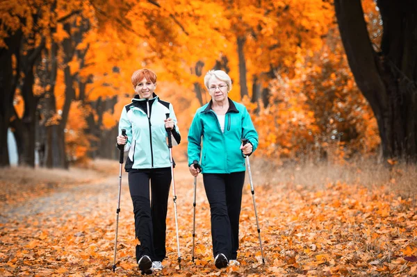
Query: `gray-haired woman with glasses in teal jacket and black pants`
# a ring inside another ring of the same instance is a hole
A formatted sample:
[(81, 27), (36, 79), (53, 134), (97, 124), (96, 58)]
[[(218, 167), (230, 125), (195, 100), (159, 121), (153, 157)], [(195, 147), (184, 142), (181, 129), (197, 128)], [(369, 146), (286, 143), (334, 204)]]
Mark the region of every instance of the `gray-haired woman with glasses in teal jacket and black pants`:
[[(215, 267), (239, 265), (239, 217), (245, 183), (245, 158), (258, 146), (258, 134), (245, 106), (227, 96), (231, 78), (222, 70), (204, 76), (211, 101), (195, 113), (188, 132), (188, 167), (193, 176), (202, 168), (211, 211)], [(242, 139), (249, 143), (243, 146)], [(203, 147), (202, 147), (203, 144)]]

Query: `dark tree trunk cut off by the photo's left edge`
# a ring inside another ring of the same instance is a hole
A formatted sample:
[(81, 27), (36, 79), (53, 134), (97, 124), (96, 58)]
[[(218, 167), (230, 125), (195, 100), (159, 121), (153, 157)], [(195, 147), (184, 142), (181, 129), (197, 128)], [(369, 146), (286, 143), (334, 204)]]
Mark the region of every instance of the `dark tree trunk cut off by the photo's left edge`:
[[(16, 31), (6, 37), (4, 42), (7, 48), (0, 49), (0, 167), (10, 165), (8, 156), (8, 127), (10, 116), (13, 114), (13, 98), (19, 74), (13, 74), (13, 70), (19, 72), (19, 49), (22, 40), (22, 31)], [(13, 56), (17, 60), (16, 68), (13, 68)]]

